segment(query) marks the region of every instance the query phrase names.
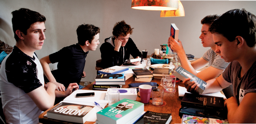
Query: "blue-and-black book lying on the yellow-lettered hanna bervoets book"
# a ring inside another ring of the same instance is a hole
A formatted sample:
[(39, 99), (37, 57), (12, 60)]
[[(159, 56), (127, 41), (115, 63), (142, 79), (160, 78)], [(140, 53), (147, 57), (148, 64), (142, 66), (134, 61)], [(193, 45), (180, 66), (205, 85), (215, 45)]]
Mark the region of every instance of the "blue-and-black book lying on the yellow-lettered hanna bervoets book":
[(95, 77), (95, 82), (97, 87), (100, 85), (125, 85), (125, 77), (124, 74), (99, 74)]

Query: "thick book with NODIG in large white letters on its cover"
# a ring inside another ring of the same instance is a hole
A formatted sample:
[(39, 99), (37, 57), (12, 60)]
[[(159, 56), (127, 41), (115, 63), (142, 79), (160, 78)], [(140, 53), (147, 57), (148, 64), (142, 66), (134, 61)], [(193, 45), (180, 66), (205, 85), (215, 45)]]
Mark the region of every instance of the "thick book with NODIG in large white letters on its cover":
[(94, 106), (62, 102), (47, 112), (48, 118), (84, 124), (95, 113)]

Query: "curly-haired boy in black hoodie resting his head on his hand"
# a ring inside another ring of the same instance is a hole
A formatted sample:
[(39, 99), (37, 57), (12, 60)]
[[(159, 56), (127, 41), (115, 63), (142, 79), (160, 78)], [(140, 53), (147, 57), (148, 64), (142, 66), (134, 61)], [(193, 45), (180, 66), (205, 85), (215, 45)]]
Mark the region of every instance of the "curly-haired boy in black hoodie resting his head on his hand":
[[(125, 60), (130, 59), (130, 54), (133, 58), (143, 59), (140, 50), (130, 38), (132, 29), (134, 28), (126, 24), (124, 20), (114, 25), (113, 36), (106, 38), (105, 43), (100, 46), (102, 61), (98, 66), (102, 68), (120, 66)], [(132, 64), (139, 65), (141, 61)]]

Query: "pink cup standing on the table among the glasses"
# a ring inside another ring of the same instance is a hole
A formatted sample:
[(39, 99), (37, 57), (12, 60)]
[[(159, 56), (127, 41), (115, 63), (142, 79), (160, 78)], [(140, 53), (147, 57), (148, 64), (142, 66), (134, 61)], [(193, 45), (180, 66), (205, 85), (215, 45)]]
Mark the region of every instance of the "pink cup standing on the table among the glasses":
[(151, 90), (152, 90), (152, 86), (150, 85), (139, 86), (141, 103), (149, 103)]

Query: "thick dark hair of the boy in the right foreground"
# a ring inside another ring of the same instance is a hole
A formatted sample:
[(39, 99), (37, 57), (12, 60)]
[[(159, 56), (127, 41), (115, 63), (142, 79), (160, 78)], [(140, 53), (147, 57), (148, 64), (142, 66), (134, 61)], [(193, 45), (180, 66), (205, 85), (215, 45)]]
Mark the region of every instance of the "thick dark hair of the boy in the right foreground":
[(209, 31), (222, 34), (230, 42), (241, 36), (248, 47), (253, 47), (256, 43), (256, 16), (245, 9), (230, 10), (216, 19)]

